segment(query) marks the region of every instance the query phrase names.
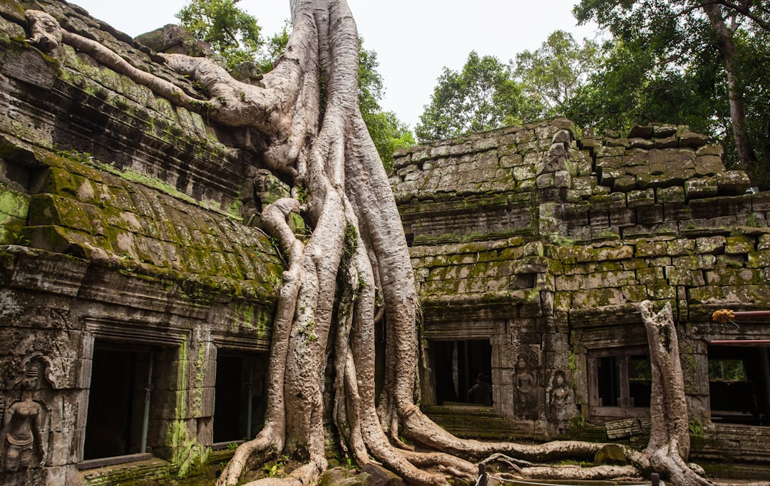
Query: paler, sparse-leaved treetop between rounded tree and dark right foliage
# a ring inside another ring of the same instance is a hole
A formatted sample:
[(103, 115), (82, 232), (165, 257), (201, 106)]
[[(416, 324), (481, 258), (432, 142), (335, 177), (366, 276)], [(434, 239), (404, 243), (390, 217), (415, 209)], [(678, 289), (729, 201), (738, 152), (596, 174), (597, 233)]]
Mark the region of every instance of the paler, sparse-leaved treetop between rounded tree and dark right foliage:
[(575, 42), (569, 32), (557, 30), (540, 49), (516, 55), (514, 75), (524, 91), (541, 100), (549, 115), (564, 112), (564, 103), (588, 82), (601, 61), (599, 45)]

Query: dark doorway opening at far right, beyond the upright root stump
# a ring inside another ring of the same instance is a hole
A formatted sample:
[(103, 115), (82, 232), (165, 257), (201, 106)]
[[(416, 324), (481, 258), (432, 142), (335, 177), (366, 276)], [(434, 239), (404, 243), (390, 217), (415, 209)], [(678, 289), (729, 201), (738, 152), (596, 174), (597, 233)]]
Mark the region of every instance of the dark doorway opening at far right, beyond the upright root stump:
[(708, 347), (711, 421), (770, 425), (768, 354), (768, 347)]

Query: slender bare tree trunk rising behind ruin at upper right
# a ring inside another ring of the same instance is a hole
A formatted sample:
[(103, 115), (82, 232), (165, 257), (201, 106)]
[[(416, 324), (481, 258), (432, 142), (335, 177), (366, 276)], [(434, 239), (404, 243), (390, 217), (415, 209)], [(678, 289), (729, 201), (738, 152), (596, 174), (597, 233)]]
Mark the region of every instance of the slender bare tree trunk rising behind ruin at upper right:
[(705, 3), (702, 7), (706, 15), (708, 15), (708, 22), (711, 23), (711, 27), (716, 32), (719, 52), (721, 52), (722, 58), (725, 59), (728, 97), (730, 99), (730, 121), (732, 122), (732, 134), (735, 137), (735, 149), (738, 151), (738, 159), (740, 159), (744, 167), (751, 167), (757, 163), (757, 156), (754, 153), (752, 142), (748, 139), (746, 102), (738, 79), (740, 70), (738, 65), (738, 49), (736, 49), (735, 42), (733, 42), (730, 28), (725, 24), (721, 6), (716, 3)]

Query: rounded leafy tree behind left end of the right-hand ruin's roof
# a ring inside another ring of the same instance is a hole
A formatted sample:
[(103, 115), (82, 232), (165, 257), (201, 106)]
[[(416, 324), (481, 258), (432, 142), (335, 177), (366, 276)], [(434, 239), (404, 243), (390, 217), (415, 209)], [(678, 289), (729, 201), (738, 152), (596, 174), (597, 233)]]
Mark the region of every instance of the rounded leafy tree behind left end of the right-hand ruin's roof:
[(511, 66), (470, 52), (462, 71), (444, 67), (415, 133), (422, 142), (536, 119), (544, 106), (512, 79)]

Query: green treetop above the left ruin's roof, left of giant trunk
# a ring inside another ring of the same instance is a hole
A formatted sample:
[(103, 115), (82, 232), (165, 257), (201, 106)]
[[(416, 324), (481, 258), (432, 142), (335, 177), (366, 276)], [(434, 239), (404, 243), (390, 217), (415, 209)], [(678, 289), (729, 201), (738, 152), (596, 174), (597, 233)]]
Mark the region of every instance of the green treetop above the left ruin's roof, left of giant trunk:
[(176, 13), (182, 27), (222, 54), (230, 69), (242, 62), (256, 62), (263, 42), (256, 18), (237, 7), (239, 1), (190, 0)]

